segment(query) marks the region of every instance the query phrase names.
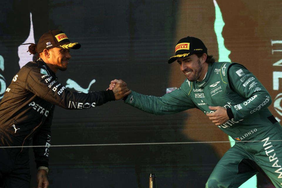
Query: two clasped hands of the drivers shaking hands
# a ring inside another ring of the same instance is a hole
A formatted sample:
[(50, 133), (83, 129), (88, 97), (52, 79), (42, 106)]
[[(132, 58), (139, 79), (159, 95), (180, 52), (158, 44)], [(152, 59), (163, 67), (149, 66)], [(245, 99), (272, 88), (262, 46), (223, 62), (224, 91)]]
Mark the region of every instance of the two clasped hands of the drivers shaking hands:
[(112, 80), (107, 90), (113, 90), (115, 100), (122, 99), (129, 95), (131, 91), (127, 88), (126, 83), (122, 80)]

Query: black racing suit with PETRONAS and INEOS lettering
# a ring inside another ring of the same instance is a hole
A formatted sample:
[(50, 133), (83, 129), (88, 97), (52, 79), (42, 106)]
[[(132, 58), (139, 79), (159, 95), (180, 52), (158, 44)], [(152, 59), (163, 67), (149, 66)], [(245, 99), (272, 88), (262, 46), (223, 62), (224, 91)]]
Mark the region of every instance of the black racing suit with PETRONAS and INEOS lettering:
[[(36, 166), (48, 167), (50, 127), (55, 105), (85, 109), (115, 100), (112, 90), (78, 93), (67, 90), (39, 59), (14, 76), (0, 103), (0, 187), (29, 187), (28, 146), (33, 138)], [(4, 185), (4, 186), (5, 186)]]

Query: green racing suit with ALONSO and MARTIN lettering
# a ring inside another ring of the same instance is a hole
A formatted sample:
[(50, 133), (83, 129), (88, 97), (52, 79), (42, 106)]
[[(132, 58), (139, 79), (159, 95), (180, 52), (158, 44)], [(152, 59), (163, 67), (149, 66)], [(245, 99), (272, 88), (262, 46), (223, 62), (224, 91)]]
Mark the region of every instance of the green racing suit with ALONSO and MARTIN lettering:
[[(209, 106), (227, 109), (229, 120), (218, 125), (236, 141), (218, 162), (207, 187), (239, 187), (261, 172), (282, 187), (282, 127), (268, 110), (271, 96), (259, 80), (238, 63), (210, 63), (202, 81), (190, 82), (162, 97), (132, 91), (125, 103), (153, 114), (172, 114)], [(247, 141), (247, 142), (245, 142)], [(253, 142), (252, 142), (253, 141)], [(248, 166), (247, 168), (243, 168)], [(254, 164), (253, 166), (251, 164)]]

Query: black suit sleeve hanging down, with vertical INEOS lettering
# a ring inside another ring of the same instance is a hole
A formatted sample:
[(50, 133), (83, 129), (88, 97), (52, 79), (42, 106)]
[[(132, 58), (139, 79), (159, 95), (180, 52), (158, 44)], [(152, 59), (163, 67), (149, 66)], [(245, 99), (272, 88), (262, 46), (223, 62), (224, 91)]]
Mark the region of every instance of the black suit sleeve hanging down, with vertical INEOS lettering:
[(48, 167), (48, 157), (51, 145), (51, 124), (54, 114), (55, 105), (51, 108), (48, 117), (44, 124), (39, 128), (32, 138), (33, 146), (45, 146), (45, 147), (33, 147), (35, 156), (36, 169), (38, 167)]

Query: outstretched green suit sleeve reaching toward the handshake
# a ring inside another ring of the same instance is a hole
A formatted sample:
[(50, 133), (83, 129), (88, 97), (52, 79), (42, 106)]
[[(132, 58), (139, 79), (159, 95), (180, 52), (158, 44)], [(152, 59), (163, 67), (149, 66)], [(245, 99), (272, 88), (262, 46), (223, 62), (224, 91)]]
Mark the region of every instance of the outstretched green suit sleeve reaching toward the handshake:
[(126, 98), (125, 103), (138, 108), (139, 110), (157, 115), (173, 114), (190, 108), (195, 108), (187, 91), (181, 87), (162, 97), (142, 95), (131, 91), (131, 94)]

